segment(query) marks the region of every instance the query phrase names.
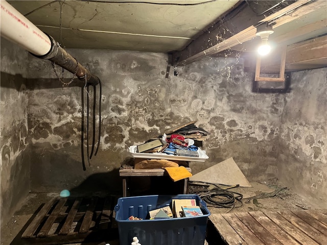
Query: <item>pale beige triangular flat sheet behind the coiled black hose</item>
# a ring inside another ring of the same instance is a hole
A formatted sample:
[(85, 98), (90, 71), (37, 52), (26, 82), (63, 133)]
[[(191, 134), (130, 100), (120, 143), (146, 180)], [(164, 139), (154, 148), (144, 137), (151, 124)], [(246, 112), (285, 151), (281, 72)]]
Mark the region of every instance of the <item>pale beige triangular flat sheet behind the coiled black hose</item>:
[(193, 175), (190, 177), (190, 181), (223, 185), (239, 184), (241, 187), (251, 187), (232, 157)]

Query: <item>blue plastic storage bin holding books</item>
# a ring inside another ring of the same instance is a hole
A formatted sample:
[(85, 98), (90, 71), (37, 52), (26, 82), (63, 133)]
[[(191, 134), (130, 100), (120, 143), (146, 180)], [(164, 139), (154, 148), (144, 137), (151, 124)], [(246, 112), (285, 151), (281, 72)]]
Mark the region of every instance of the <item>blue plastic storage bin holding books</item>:
[[(145, 219), (150, 210), (169, 206), (172, 199), (195, 199), (203, 215)], [(142, 245), (203, 245), (209, 210), (198, 195), (145, 195), (119, 198), (114, 207), (120, 245), (130, 245), (137, 236)], [(130, 216), (143, 220), (129, 220)]]

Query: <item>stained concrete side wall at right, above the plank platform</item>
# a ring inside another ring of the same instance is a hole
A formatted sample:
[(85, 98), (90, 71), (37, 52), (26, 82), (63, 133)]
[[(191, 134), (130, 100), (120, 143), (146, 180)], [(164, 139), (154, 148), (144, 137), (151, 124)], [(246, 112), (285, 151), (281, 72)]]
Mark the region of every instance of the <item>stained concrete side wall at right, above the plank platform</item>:
[(285, 98), (278, 178), (327, 208), (327, 68), (294, 72)]

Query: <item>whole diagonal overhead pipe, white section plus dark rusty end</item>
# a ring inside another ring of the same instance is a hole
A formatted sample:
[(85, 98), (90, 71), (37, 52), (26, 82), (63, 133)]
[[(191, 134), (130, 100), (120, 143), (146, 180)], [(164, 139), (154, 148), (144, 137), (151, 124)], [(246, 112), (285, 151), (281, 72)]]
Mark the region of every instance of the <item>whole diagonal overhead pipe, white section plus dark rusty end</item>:
[(100, 79), (60, 47), (54, 38), (43, 33), (6, 1), (0, 1), (0, 4), (1, 36), (25, 48), (32, 55), (50, 60), (76, 74), (83, 83), (85, 80), (88, 85), (99, 83)]

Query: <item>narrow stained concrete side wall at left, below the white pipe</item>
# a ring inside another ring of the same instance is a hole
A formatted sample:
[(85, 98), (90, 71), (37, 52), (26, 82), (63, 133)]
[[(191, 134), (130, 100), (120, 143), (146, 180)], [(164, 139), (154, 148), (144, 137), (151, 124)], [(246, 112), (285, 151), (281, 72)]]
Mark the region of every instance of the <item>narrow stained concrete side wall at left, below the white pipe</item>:
[(27, 57), (26, 51), (1, 39), (1, 225), (30, 190)]

